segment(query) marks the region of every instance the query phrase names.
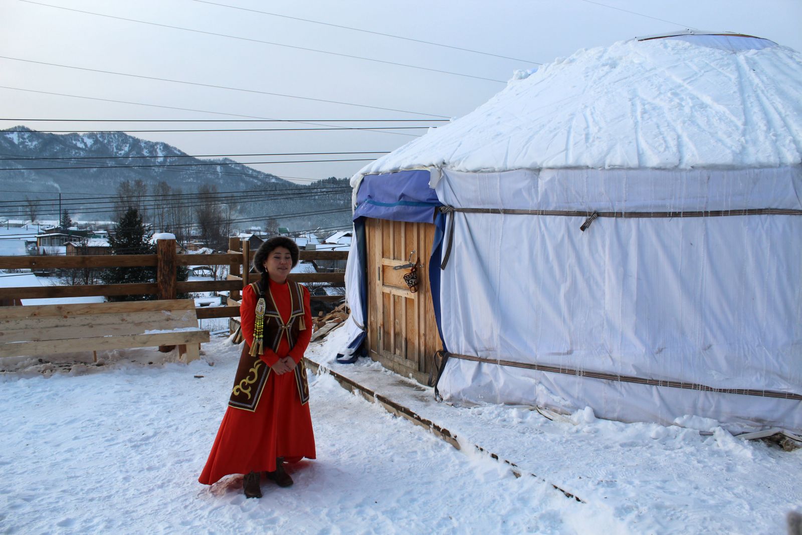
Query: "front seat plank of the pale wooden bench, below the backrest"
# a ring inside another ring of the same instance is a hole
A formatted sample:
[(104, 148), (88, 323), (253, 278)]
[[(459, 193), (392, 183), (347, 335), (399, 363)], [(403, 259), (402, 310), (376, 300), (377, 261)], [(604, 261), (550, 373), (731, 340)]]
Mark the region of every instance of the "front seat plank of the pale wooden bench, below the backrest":
[(0, 344), (0, 357), (51, 355), (55, 353), (72, 353), (74, 351), (127, 349), (129, 347), (176, 346), (192, 342), (209, 342), (209, 332), (205, 330), (180, 330), (172, 333), (126, 334), (123, 336), (68, 338), (42, 342)]

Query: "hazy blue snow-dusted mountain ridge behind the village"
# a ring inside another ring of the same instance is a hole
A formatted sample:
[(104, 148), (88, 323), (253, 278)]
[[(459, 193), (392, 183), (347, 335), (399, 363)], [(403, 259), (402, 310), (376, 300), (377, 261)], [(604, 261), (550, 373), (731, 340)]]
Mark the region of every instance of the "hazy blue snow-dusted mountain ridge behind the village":
[[(18, 158), (36, 158), (19, 160)], [(90, 160), (70, 160), (91, 158)], [(329, 179), (318, 184), (302, 185), (282, 180), (270, 173), (257, 171), (228, 158), (201, 160), (166, 143), (142, 140), (125, 132), (88, 132), (85, 134), (51, 134), (18, 126), (0, 130), (0, 216), (24, 217), (26, 199), (37, 202), (40, 218), (59, 212), (58, 198), (63, 201), (87, 197), (87, 194), (115, 196), (125, 180), (141, 180), (148, 194), (156, 184), (166, 182), (172, 192), (180, 190), (194, 195), (203, 186), (220, 192), (251, 192), (280, 190), (281, 201), (239, 202), (227, 213), (243, 221), (241, 227), (264, 227), (269, 217), (282, 214), (307, 213), (304, 217), (276, 217), (279, 225), (289, 229), (314, 229), (348, 225), (350, 213), (319, 212), (347, 207), (350, 193), (346, 179)], [(201, 167), (156, 167), (164, 164), (205, 164)], [(221, 164), (221, 165), (209, 165)], [(228, 165), (226, 165), (228, 164)], [(125, 168), (137, 165), (154, 167)], [(114, 166), (114, 168), (103, 168)], [(91, 167), (83, 170), (75, 168)], [(39, 168), (39, 169), (34, 169)], [(6, 170), (7, 169), (7, 170)], [(13, 169), (13, 170), (12, 170)], [(327, 191), (331, 190), (331, 191)], [(298, 195), (295, 195), (298, 193)], [(18, 201), (10, 203), (7, 201)], [(70, 201), (75, 203), (75, 201)], [(14, 205), (12, 208), (11, 205)], [(152, 209), (150, 210), (152, 211)], [(70, 205), (73, 219), (106, 219), (115, 221), (117, 214), (97, 205)]]

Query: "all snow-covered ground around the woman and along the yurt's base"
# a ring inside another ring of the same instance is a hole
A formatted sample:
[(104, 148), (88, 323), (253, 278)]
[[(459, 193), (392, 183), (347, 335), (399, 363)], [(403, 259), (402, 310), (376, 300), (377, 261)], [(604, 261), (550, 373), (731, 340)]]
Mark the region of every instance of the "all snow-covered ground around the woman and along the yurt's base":
[[(307, 354), (330, 361), (343, 331)], [(460, 444), (485, 440), (539, 476), (516, 478), (330, 375), (310, 376), (318, 459), (291, 468), (293, 487), (265, 480), (265, 496), (245, 500), (241, 476), (196, 481), (239, 355), (225, 338), (203, 349), (188, 366), (140, 349), (67, 373), (34, 359), (0, 375), (0, 533), (784, 533), (802, 505), (802, 451), (589, 411), (549, 421), (521, 407), (448, 407), (405, 386)], [(404, 383), (376, 366), (351, 368)]]

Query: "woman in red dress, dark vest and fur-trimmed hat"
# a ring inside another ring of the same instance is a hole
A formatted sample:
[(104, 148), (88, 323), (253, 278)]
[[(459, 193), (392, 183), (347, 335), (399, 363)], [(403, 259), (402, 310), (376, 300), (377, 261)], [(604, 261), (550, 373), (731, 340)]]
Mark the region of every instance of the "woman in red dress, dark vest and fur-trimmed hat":
[(261, 497), (261, 472), (293, 484), (284, 461), (314, 459), (314, 434), (303, 353), (312, 335), (309, 290), (287, 278), (298, 264), (288, 237), (265, 241), (253, 257), (261, 281), (242, 290), (245, 338), (234, 387), (209, 460), (198, 479), (213, 484), (245, 474), (245, 496)]

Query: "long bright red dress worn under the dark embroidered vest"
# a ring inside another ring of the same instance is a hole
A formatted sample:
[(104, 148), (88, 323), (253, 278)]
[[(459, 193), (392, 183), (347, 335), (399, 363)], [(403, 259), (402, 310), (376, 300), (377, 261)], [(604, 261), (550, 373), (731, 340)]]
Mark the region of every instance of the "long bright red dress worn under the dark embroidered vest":
[[(304, 286), (304, 322), (306, 330), (298, 332), (295, 346), (290, 348), (289, 342), (282, 337), (278, 352), (267, 348), (260, 359), (268, 366), (278, 362), (287, 355), (298, 363), (312, 337), (312, 313), (309, 307), (309, 290)], [(282, 320), (290, 319), (291, 301), (290, 287), (285, 282), (278, 284), (270, 281), (270, 291), (276, 301)], [(265, 292), (266, 293), (266, 292)], [(242, 290), (240, 306), (241, 330), (245, 341), (253, 343), (253, 320), (255, 317), (256, 295), (250, 286)], [(278, 375), (270, 372), (256, 411), (244, 411), (229, 407), (225, 411), (217, 438), (214, 440), (209, 460), (198, 480), (203, 484), (213, 484), (229, 474), (246, 474), (248, 472), (273, 472), (276, 469), (276, 458), (284, 457), (290, 463), (296, 463), (303, 457), (314, 459), (314, 434), (309, 403), (301, 404), (298, 398), (298, 387), (295, 374), (291, 371)]]

